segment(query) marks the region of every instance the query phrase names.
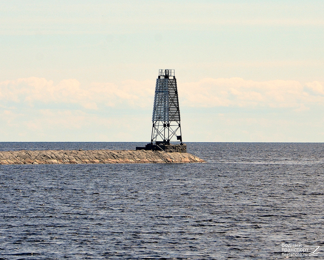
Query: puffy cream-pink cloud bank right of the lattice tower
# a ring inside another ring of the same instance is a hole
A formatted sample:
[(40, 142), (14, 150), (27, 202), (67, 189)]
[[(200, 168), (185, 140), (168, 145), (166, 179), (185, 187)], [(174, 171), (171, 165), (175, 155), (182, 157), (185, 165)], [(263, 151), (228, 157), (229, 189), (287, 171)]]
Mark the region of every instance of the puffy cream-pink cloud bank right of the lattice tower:
[(206, 78), (179, 85), (179, 92), (181, 103), (191, 107), (289, 107), (305, 110), (312, 103), (324, 105), (321, 96), (324, 94), (323, 85), (317, 81), (303, 86), (295, 80)]

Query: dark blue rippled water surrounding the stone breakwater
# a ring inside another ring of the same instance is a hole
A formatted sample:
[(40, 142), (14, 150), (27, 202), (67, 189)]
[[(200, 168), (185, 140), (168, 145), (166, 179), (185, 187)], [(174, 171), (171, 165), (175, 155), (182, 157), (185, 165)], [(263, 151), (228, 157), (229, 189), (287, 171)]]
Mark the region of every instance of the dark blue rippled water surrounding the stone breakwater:
[(323, 143), (187, 145), (208, 162), (0, 166), (0, 259), (284, 259), (282, 243), (324, 258)]

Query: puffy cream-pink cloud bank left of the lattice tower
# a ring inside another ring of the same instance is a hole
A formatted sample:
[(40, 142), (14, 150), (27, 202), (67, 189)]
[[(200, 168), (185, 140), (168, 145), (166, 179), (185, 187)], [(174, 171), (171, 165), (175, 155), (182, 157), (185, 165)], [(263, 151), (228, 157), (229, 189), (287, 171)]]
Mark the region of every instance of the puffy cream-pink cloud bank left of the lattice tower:
[[(126, 80), (113, 83), (92, 83), (82, 87), (76, 79), (52, 80), (30, 77), (0, 82), (0, 101), (16, 105), (34, 106), (36, 103), (76, 104), (86, 109), (99, 106), (129, 105), (146, 107), (153, 103), (154, 81)], [(3, 105), (3, 104), (1, 104)]]

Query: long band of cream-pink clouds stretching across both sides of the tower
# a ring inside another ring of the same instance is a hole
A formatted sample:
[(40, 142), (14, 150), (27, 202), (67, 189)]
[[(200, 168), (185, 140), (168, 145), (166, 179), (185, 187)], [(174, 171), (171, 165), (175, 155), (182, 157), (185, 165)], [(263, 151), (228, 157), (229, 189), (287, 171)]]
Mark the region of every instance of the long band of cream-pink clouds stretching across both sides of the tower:
[[(0, 105), (4, 109), (43, 104), (54, 108), (77, 105), (77, 109), (86, 110), (105, 107), (147, 110), (152, 109), (154, 89), (153, 80), (125, 80), (117, 84), (94, 82), (83, 87), (76, 79), (54, 84), (52, 80), (30, 77), (0, 82)], [(181, 107), (265, 107), (303, 111), (311, 104), (324, 104), (323, 83), (318, 81), (302, 85), (295, 80), (205, 78), (178, 83), (178, 89)]]

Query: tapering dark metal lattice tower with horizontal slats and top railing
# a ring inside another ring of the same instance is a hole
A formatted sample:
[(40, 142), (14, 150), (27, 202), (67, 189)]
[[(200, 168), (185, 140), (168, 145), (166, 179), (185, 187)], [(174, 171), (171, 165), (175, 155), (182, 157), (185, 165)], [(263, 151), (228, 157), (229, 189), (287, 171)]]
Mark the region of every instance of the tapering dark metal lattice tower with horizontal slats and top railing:
[(168, 144), (176, 138), (182, 144), (177, 80), (174, 69), (160, 69), (156, 79), (151, 144)]

